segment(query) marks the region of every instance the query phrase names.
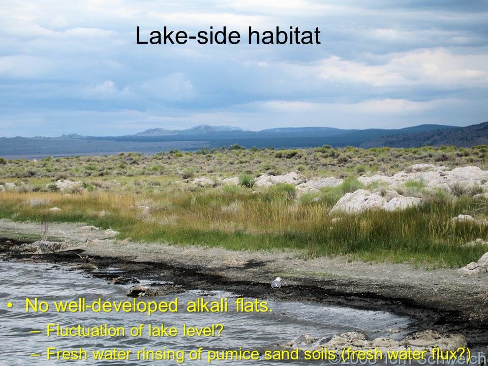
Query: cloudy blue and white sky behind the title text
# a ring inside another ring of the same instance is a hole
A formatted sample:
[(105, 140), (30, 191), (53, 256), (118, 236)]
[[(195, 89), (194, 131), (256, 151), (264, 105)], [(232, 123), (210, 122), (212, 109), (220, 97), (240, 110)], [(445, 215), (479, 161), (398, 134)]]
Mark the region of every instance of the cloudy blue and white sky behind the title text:
[[(138, 45), (164, 26), (238, 45)], [(247, 29), (320, 29), (249, 45)], [(485, 0), (0, 2), (0, 136), (488, 120)]]

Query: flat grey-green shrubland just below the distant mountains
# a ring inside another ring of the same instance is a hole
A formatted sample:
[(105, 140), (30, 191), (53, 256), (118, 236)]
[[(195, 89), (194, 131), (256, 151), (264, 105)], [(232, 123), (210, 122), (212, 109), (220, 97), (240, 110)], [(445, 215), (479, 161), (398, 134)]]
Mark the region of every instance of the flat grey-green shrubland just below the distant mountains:
[[(295, 169), (307, 175), (339, 176), (382, 173), (391, 175), (416, 163), (431, 163), (448, 167), (476, 165), (488, 169), (485, 145), (471, 148), (334, 148), (323, 146), (303, 149), (203, 148), (195, 152), (178, 150), (153, 156), (121, 153), (115, 156), (45, 158), (39, 161), (2, 160), (0, 180), (35, 178), (100, 178), (132, 176), (174, 176), (188, 178), (202, 175), (258, 176), (264, 173), (288, 173)], [(439, 160), (442, 157), (442, 160)], [(1, 181), (0, 181), (0, 184)]]

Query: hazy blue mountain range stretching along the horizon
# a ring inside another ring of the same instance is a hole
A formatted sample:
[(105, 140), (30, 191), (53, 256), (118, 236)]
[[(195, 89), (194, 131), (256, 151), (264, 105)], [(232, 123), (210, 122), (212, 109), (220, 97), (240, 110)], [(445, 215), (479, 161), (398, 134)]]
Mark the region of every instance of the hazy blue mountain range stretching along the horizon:
[(104, 155), (120, 151), (154, 154), (169, 149), (195, 150), (239, 144), (244, 147), (418, 147), (473, 146), (488, 143), (488, 122), (468, 127), (420, 125), (403, 129), (342, 130), (330, 127), (274, 128), (247, 131), (231, 126), (201, 125), (187, 130), (149, 129), (126, 136), (0, 138), (0, 157)]

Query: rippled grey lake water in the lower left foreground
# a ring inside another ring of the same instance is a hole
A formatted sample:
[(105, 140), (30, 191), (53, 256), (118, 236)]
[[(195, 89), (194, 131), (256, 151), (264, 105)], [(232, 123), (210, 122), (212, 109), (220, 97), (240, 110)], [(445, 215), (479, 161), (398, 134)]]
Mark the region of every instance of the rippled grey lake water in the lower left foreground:
[[(286, 284), (286, 282), (285, 282)], [(212, 292), (205, 299), (229, 298), (229, 312), (217, 314), (187, 313), (185, 304), (189, 300), (206, 294), (202, 291), (189, 291), (177, 295), (169, 295), (158, 300), (179, 299), (178, 313), (158, 313), (151, 316), (141, 313), (64, 313), (54, 311), (47, 313), (25, 313), (25, 297), (39, 297), (41, 300), (76, 300), (81, 296), (86, 301), (96, 300), (130, 300), (126, 296), (130, 285), (111, 285), (106, 281), (87, 277), (82, 272), (67, 271), (63, 268), (53, 268), (50, 264), (32, 264), (18, 262), (0, 262), (0, 365), (33, 365), (47, 364), (100, 364), (100, 365), (175, 365), (175, 361), (48, 361), (45, 359), (47, 347), (57, 349), (76, 349), (83, 347), (90, 353), (95, 349), (130, 349), (134, 353), (142, 349), (192, 350), (198, 347), (212, 350), (222, 349), (269, 349), (274, 345), (287, 342), (297, 335), (308, 333), (315, 336), (327, 337), (333, 334), (360, 330), (372, 337), (390, 335), (402, 338), (403, 332), (388, 334), (387, 328), (406, 328), (410, 322), (408, 318), (398, 317), (387, 312), (364, 311), (344, 307), (321, 306), (315, 303), (294, 301), (268, 301), (272, 313), (236, 313), (232, 309), (233, 294)], [(204, 289), (202, 289), (204, 290)], [(155, 299), (155, 298), (151, 298)], [(149, 300), (149, 298), (147, 299)], [(14, 306), (7, 308), (7, 302)], [(53, 307), (52, 307), (53, 308)], [(191, 326), (207, 326), (221, 323), (224, 330), (221, 337), (213, 338), (151, 338), (144, 334), (140, 338), (56, 338), (46, 337), (47, 323), (59, 323), (64, 326), (98, 326), (108, 323), (111, 326), (130, 326), (144, 324), (177, 326), (182, 324)], [(40, 329), (41, 334), (31, 334), (32, 329)], [(41, 357), (32, 357), (37, 352)], [(260, 364), (271, 365), (280, 362), (269, 361), (215, 361), (211, 364)], [(205, 361), (188, 361), (183, 364), (208, 364)], [(299, 364), (293, 362), (293, 364)], [(305, 363), (304, 363), (305, 364)], [(314, 364), (322, 364), (314, 362)]]

